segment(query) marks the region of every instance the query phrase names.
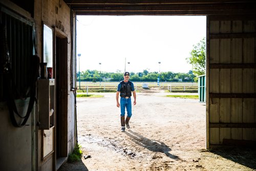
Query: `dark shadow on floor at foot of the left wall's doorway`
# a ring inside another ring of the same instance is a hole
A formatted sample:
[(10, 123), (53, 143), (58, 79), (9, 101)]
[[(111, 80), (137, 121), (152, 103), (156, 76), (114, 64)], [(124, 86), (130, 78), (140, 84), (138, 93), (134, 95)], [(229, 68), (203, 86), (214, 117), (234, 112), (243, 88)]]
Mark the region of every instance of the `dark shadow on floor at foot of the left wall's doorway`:
[(67, 162), (65, 164), (62, 164), (58, 169), (58, 171), (73, 171), (73, 170), (88, 171), (88, 168), (86, 167), (86, 165), (84, 165), (84, 163), (80, 159), (78, 162), (73, 162), (73, 163)]

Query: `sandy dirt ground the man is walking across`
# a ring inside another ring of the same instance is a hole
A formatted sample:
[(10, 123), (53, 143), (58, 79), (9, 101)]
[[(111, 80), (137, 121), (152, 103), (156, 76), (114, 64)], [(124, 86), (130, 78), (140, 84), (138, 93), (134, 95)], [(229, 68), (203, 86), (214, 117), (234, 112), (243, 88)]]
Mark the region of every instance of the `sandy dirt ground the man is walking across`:
[(205, 149), (206, 106), (197, 99), (169, 98), (161, 91), (137, 93), (131, 129), (122, 133), (115, 93), (102, 94), (77, 99), (78, 143), (83, 156), (91, 158), (59, 170), (256, 169), (252, 149)]

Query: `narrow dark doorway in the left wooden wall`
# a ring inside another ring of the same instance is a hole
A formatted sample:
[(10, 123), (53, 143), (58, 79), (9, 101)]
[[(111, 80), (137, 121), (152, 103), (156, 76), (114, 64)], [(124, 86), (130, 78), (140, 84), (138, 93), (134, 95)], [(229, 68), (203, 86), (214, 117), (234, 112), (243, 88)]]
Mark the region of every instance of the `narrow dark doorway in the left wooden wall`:
[(68, 156), (68, 38), (56, 32), (56, 168)]

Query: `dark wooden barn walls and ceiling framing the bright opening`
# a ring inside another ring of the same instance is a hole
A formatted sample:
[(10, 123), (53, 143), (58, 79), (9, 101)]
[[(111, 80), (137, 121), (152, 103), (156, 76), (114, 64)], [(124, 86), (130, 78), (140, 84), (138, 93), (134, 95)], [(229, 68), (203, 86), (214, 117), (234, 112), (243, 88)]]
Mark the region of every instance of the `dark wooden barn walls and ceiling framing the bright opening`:
[(206, 149), (255, 147), (255, 1), (1, 0), (0, 9), (1, 170), (57, 170), (74, 149), (76, 15), (205, 15)]

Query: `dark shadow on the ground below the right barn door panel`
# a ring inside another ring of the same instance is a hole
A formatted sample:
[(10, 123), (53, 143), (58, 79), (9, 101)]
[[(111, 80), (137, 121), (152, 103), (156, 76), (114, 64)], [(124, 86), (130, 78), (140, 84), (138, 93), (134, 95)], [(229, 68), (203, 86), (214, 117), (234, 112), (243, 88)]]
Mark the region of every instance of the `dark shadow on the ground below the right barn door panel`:
[(212, 149), (210, 153), (214, 153), (246, 167), (256, 169), (256, 148), (225, 147)]

